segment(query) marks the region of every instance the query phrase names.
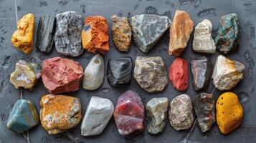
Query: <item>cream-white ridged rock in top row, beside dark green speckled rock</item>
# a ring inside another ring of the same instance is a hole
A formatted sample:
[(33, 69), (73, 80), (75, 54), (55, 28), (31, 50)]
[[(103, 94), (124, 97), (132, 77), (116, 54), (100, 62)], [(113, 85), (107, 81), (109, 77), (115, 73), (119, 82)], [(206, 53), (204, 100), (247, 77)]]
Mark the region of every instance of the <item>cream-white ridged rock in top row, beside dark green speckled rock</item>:
[(214, 54), (216, 46), (212, 39), (212, 22), (204, 19), (194, 30), (193, 50), (200, 53)]

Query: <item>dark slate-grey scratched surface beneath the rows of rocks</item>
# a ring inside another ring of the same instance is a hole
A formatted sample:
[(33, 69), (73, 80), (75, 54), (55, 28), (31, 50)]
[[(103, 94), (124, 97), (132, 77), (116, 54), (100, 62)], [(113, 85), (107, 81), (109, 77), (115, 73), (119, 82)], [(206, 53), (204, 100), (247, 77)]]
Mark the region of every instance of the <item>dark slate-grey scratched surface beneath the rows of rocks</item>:
[[(255, 97), (255, 60), (256, 60), (256, 41), (255, 41), (255, 24), (256, 24), (256, 1), (255, 0), (17, 0), (18, 17), (22, 18), (24, 14), (33, 13), (35, 16), (35, 34), (37, 34), (37, 25), (39, 22), (39, 16), (43, 14), (58, 14), (64, 11), (77, 11), (82, 14), (82, 20), (85, 16), (101, 15), (108, 19), (110, 28), (110, 16), (117, 14), (118, 16), (131, 17), (136, 14), (160, 14), (169, 16), (172, 20), (176, 9), (187, 11), (194, 24), (198, 24), (203, 19), (209, 19), (213, 24), (213, 31), (216, 32), (219, 26), (219, 19), (224, 14), (237, 13), (240, 19), (241, 26), (241, 45), (240, 49), (232, 54), (228, 54), (227, 57), (242, 61), (246, 66), (245, 78), (237, 84), (231, 91), (236, 93), (240, 97), (242, 107), (244, 108), (245, 118), (242, 125), (234, 132), (228, 135), (222, 135), (217, 128), (217, 124), (214, 124), (212, 129), (206, 134), (200, 132), (199, 127), (195, 127), (191, 133), (189, 140), (193, 142), (256, 142), (256, 97)], [(11, 44), (11, 34), (16, 29), (16, 18), (14, 0), (0, 0), (0, 143), (3, 142), (27, 142), (24, 136), (15, 134), (11, 130), (6, 128), (6, 122), (9, 117), (11, 107), (14, 105), (17, 99), (19, 99), (19, 90), (14, 89), (9, 83), (9, 74), (14, 71), (15, 63), (19, 59), (32, 59), (36, 61), (42, 61), (44, 59), (62, 56), (57, 54), (53, 48), (50, 54), (42, 54), (34, 47), (32, 54), (26, 56), (22, 52), (17, 51)], [(214, 35), (213, 32), (213, 35)], [(35, 36), (34, 36), (35, 37)], [(111, 39), (111, 36), (110, 36)], [(192, 37), (191, 37), (192, 39)], [(200, 56), (191, 49), (191, 39), (188, 47), (185, 49), (182, 57), (188, 61)], [(35, 43), (35, 40), (34, 40)], [(110, 40), (110, 51), (105, 54), (105, 64), (108, 59), (113, 56), (131, 56), (133, 63), (136, 56), (161, 56), (166, 62), (166, 67), (174, 60), (173, 56), (169, 56), (169, 32), (163, 36), (163, 39), (155, 46), (155, 48), (148, 54), (144, 54), (140, 51), (134, 43), (131, 44), (131, 49), (128, 53), (120, 53), (113, 46), (113, 42)], [(90, 54), (85, 51), (81, 56), (72, 58), (75, 61), (79, 61), (85, 68), (93, 57), (94, 54)], [(219, 52), (216, 54), (207, 55), (212, 59), (212, 63), (216, 60)], [(64, 57), (64, 56), (62, 56)], [(171, 82), (163, 92), (149, 94), (143, 89), (138, 87), (135, 79), (132, 79), (131, 84), (128, 87), (113, 88), (107, 82), (105, 78), (104, 83), (100, 89), (93, 92), (87, 92), (80, 88), (77, 92), (67, 93), (67, 95), (73, 95), (81, 99), (82, 102), (82, 116), (85, 114), (85, 109), (90, 97), (98, 96), (110, 99), (114, 104), (117, 102), (120, 94), (127, 89), (133, 89), (138, 92), (143, 100), (143, 104), (146, 104), (148, 100), (153, 97), (168, 97), (169, 102), (179, 94), (189, 94), (191, 99), (194, 99), (197, 94), (194, 92), (191, 82), (191, 70), (189, 68), (189, 89), (186, 92), (176, 91)], [(209, 88), (205, 92), (212, 92), (212, 82)], [(39, 113), (39, 100), (42, 94), (47, 94), (47, 90), (44, 89), (42, 81), (35, 86), (34, 90), (23, 90), (24, 99), (29, 99), (34, 102)], [(222, 92), (215, 91), (214, 97), (217, 99)], [(145, 125), (147, 122), (145, 123)], [(29, 130), (29, 137), (31, 142), (180, 142), (189, 131), (176, 132), (169, 124), (169, 120), (166, 123), (166, 128), (162, 134), (152, 136), (146, 132), (138, 134), (133, 138), (125, 138), (118, 134), (118, 130), (115, 127), (114, 119), (112, 118), (108, 126), (96, 137), (82, 137), (80, 135), (80, 124), (74, 129), (70, 129), (69, 132), (58, 134), (55, 136), (49, 136), (44, 131), (40, 124), (37, 127)]]

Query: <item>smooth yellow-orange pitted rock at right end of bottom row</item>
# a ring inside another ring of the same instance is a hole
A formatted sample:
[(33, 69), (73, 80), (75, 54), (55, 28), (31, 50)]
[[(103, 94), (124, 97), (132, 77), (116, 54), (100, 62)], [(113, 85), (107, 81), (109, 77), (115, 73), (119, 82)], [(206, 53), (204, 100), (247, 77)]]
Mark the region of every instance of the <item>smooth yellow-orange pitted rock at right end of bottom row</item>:
[(243, 119), (243, 109), (236, 94), (225, 92), (219, 96), (216, 104), (216, 117), (222, 134), (229, 134), (240, 126)]

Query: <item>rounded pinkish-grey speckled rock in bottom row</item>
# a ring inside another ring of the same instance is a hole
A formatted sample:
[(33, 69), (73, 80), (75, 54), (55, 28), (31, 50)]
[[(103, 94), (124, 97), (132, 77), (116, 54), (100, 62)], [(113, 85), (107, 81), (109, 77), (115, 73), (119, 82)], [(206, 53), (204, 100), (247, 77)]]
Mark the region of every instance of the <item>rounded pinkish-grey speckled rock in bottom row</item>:
[(169, 120), (174, 129), (189, 129), (193, 122), (193, 107), (191, 99), (186, 94), (175, 97), (170, 104)]

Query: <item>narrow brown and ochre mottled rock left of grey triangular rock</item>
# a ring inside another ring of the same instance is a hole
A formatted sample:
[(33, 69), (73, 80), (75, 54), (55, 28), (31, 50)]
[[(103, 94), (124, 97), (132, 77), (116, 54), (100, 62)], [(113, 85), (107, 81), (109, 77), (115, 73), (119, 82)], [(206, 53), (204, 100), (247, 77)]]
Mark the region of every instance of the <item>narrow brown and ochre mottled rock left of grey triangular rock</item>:
[(131, 26), (128, 18), (111, 16), (113, 43), (119, 51), (128, 51), (131, 44)]

